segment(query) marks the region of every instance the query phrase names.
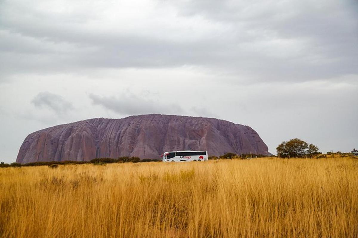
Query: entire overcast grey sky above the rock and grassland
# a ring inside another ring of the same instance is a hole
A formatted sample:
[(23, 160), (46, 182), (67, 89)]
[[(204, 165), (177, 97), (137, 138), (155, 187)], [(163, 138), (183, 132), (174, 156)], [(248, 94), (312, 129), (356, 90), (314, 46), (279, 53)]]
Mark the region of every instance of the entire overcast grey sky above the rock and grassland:
[(358, 147), (355, 0), (0, 1), (0, 161), (25, 137), (162, 113), (248, 125), (276, 153)]

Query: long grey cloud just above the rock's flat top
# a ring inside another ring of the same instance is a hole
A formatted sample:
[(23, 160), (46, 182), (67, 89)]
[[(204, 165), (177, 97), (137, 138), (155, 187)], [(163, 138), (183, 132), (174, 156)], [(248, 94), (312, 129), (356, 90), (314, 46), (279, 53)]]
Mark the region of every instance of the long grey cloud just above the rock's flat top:
[(93, 93), (89, 94), (94, 105), (101, 105), (108, 110), (120, 113), (122, 115), (139, 115), (146, 113), (177, 113), (183, 112), (182, 108), (176, 104), (166, 105), (150, 99), (144, 99), (134, 94), (120, 97), (98, 96)]

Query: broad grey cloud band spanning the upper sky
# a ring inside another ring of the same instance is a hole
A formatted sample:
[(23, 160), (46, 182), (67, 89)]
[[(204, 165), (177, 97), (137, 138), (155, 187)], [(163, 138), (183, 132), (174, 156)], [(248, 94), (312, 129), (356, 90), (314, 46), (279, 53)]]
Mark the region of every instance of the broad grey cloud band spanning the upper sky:
[(182, 40), (159, 38), (154, 33), (165, 32), (155, 25), (147, 26), (152, 35), (135, 28), (121, 32), (105, 28), (106, 22), (102, 28), (89, 24), (100, 20), (94, 11), (49, 13), (5, 1), (0, 10), (0, 33), (5, 36), (0, 40), (0, 70), (11, 74), (195, 65), (233, 76), (251, 74), (255, 81), (358, 73), (357, 8), (349, 1), (169, 3), (179, 15), (202, 17), (222, 30), (194, 40), (185, 40), (185, 35)]

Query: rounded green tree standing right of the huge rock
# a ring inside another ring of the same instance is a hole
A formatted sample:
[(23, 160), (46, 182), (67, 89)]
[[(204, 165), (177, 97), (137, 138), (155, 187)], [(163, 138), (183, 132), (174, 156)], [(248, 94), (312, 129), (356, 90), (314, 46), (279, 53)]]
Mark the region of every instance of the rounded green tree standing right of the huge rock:
[(318, 147), (298, 138), (284, 141), (276, 147), (277, 155), (279, 157), (304, 157), (306, 155), (316, 155)]

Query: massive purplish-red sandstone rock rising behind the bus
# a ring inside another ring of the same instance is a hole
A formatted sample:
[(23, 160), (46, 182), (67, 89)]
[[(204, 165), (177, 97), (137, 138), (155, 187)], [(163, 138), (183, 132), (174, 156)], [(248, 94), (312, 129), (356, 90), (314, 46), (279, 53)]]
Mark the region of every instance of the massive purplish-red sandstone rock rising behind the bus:
[(268, 154), (265, 143), (248, 126), (215, 118), (151, 114), (94, 118), (33, 132), (21, 145), (16, 162), (159, 158), (165, 151), (176, 150), (207, 150), (215, 156)]

